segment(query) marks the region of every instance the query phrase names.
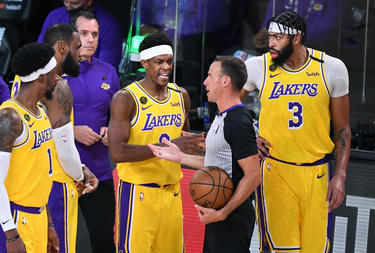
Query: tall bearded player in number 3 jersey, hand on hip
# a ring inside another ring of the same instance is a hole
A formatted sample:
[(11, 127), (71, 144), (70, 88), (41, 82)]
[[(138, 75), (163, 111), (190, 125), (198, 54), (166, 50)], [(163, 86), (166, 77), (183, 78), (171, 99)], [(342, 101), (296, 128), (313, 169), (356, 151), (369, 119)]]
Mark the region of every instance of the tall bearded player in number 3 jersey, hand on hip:
[(341, 60), (302, 45), (307, 29), (298, 13), (279, 13), (267, 30), (270, 52), (245, 62), (242, 91), (245, 96), (258, 88), (262, 104), (260, 250), (328, 252), (331, 212), (345, 196), (350, 154), (348, 72)]

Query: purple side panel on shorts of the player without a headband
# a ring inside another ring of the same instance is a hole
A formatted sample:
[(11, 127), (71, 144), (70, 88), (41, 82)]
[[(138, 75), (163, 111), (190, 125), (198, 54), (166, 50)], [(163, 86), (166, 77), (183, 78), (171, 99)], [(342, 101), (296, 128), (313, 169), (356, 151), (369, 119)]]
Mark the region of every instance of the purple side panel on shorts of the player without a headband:
[[(60, 253), (67, 253), (65, 252), (65, 244), (63, 245), (63, 243), (68, 240), (65, 234), (65, 219), (62, 219), (65, 217), (66, 208), (64, 195), (66, 195), (64, 184), (53, 181), (51, 193), (49, 193), (48, 206), (55, 231), (60, 240)], [(68, 201), (68, 198), (66, 200)]]

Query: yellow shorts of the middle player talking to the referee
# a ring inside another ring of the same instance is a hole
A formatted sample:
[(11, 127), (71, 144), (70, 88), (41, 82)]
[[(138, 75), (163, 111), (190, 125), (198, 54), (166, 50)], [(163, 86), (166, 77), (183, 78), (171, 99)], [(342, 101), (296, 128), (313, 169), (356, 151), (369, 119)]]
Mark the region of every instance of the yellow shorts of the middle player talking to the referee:
[(180, 184), (118, 183), (118, 253), (185, 252)]

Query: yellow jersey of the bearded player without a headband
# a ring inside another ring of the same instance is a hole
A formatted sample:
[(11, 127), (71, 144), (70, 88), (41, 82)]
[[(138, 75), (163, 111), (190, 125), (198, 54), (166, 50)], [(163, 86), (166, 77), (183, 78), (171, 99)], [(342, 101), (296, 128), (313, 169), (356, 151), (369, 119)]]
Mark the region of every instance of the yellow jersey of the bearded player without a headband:
[[(61, 76), (58, 76), (60, 79), (63, 80), (63, 78)], [(17, 92), (20, 90), (21, 88), (21, 80), (20, 80), (20, 77), (18, 75), (15, 76), (14, 78), (14, 81), (13, 81), (13, 85), (12, 85), (12, 93), (10, 95), (10, 97), (14, 97)], [(73, 124), (73, 109), (72, 109), (72, 113), (71, 113), (71, 121), (72, 121), (72, 125)], [(55, 145), (55, 144), (53, 144)], [(63, 170), (63, 168), (61, 168), (60, 166), (60, 162), (58, 162), (58, 156), (57, 156), (57, 151), (56, 149), (54, 148), (54, 152), (52, 153), (52, 159), (53, 159), (53, 164), (55, 166), (54, 168), (54, 175), (53, 175), (53, 181), (56, 181), (56, 182), (59, 182), (59, 183), (71, 183), (73, 182), (73, 178), (69, 177), (65, 171)]]

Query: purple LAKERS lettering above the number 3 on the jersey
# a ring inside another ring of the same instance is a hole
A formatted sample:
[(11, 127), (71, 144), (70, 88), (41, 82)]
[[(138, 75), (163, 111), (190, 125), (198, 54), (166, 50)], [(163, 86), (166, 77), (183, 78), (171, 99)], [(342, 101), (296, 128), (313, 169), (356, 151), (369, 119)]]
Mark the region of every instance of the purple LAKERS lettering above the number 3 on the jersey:
[(318, 94), (318, 84), (281, 84), (273, 82), (271, 96), (268, 99), (278, 99), (280, 96), (305, 95), (315, 97)]

